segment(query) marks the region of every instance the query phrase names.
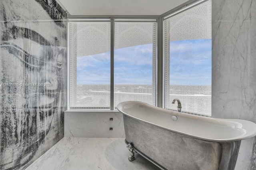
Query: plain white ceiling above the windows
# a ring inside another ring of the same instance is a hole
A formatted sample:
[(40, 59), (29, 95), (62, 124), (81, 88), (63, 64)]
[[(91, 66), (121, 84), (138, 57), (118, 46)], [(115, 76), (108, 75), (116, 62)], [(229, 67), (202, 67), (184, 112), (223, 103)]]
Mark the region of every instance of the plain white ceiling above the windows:
[(70, 15), (161, 15), (188, 0), (57, 0)]

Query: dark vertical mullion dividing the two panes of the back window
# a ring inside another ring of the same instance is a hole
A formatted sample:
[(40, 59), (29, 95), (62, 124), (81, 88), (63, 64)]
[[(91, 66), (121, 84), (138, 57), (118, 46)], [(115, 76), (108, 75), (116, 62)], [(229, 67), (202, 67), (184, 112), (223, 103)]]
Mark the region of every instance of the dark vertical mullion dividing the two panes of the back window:
[(110, 19), (110, 110), (114, 110), (114, 18)]

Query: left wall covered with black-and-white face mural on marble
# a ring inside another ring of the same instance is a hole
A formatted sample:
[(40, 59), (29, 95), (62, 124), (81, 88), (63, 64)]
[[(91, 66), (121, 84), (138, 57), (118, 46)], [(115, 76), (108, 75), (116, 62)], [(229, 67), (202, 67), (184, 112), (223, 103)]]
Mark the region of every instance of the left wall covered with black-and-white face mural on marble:
[(0, 1), (0, 169), (24, 169), (64, 137), (66, 12)]

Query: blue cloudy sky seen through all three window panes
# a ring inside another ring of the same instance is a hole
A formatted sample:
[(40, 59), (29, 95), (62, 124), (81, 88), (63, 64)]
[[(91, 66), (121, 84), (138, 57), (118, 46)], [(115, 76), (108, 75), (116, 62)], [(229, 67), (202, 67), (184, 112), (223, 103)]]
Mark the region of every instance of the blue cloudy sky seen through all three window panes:
[[(211, 39), (170, 42), (170, 84), (211, 85)], [(116, 49), (115, 84), (152, 84), (152, 44)], [(77, 57), (77, 84), (110, 84), (110, 52)]]

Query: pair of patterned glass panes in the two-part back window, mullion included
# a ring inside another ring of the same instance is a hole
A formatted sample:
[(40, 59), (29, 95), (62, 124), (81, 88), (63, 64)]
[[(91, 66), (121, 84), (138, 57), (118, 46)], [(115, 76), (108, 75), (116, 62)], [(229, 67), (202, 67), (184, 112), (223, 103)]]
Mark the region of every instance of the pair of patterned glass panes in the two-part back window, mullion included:
[(110, 109), (130, 100), (155, 105), (156, 20), (114, 21), (112, 29), (113, 51), (110, 21), (70, 21), (70, 108)]

